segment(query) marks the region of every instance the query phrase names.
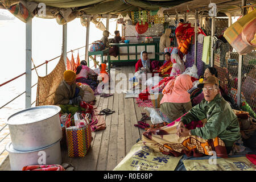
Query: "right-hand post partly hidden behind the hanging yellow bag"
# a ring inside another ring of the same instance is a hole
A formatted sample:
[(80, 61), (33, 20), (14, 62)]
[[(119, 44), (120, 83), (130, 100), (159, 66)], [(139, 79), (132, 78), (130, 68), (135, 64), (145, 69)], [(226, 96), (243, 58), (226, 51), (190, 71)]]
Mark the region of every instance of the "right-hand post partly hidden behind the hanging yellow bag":
[[(242, 5), (246, 5), (246, 0), (242, 0)], [(245, 15), (246, 13), (246, 8), (242, 8), (242, 16)], [(242, 63), (243, 63), (243, 55), (239, 55), (239, 60), (238, 60), (238, 80), (237, 80), (237, 105), (241, 105), (241, 82), (242, 82)]]

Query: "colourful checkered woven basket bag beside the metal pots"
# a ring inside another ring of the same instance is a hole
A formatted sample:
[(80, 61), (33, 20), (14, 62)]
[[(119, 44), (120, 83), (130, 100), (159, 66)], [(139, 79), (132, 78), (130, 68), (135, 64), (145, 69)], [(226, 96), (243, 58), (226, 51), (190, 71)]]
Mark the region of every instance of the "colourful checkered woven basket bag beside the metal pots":
[(92, 131), (90, 130), (90, 125), (85, 119), (85, 127), (77, 128), (76, 126), (66, 127), (66, 137), (68, 146), (68, 156), (69, 158), (84, 157), (90, 147), (92, 142)]

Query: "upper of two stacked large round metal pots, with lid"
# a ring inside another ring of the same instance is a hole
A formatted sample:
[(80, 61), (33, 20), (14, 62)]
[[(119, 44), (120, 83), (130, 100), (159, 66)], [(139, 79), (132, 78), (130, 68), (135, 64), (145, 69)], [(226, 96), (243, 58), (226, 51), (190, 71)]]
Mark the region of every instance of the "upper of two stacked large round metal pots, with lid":
[(62, 138), (59, 106), (36, 106), (7, 119), (13, 148), (31, 151), (47, 147)]

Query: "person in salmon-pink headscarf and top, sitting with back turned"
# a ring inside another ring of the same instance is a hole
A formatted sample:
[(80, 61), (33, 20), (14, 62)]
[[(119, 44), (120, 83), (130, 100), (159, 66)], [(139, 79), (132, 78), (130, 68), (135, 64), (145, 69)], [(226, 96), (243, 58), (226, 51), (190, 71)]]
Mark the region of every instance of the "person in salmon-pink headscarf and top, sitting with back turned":
[(164, 87), (160, 111), (171, 121), (175, 121), (192, 108), (190, 94), (187, 92), (190, 88), (192, 88), (192, 81), (189, 75), (180, 75)]

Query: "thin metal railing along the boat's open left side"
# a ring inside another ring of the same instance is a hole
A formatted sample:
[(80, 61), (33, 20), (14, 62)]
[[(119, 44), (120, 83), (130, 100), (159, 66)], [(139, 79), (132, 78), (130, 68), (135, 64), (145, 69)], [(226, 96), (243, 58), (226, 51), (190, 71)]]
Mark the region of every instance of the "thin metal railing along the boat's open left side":
[[(69, 51), (69, 52), (73, 52), (73, 51), (76, 51), (76, 50), (81, 49), (81, 48), (84, 48), (84, 47), (85, 47), (85, 46), (80, 47), (80, 48), (76, 48), (76, 49), (73, 49), (73, 50), (71, 50), (71, 51)], [(67, 52), (67, 53), (69, 53), (69, 52)], [(60, 55), (60, 56), (61, 56), (61, 55)], [(32, 68), (31, 71), (33, 71), (33, 70), (35, 70), (36, 68), (39, 68), (39, 67), (41, 67), (42, 65), (46, 64), (46, 75), (48, 75), (48, 74), (47, 74), (47, 72), (48, 72), (48, 66), (47, 66), (48, 63), (49, 63), (50, 61), (52, 61), (52, 60), (57, 59), (57, 58), (60, 57), (60, 56), (54, 57), (54, 58), (51, 59), (51, 60), (46, 60), (44, 63), (42, 63), (42, 64), (40, 64), (40, 65), (38, 65), (38, 66)], [(85, 55), (81, 55), (81, 56), (85, 56)], [(81, 56), (79, 56), (79, 57), (81, 57)], [(89, 61), (89, 60), (88, 60), (88, 61)], [(16, 79), (19, 78), (19, 77), (24, 76), (24, 75), (26, 75), (26, 72), (24, 72), (24, 73), (22, 73), (22, 74), (20, 74), (20, 75), (18, 75), (18, 76), (16, 76), (16, 77), (14, 77), (14, 78), (11, 78), (10, 80), (8, 80), (8, 81), (6, 81), (6, 82), (3, 82), (2, 84), (0, 84), (0, 87), (3, 86), (3, 85), (8, 84), (8, 83), (10, 83), (10, 82), (12, 82), (12, 81), (14, 81), (14, 80), (16, 80)], [(34, 87), (35, 85), (37, 85), (37, 84), (38, 84), (38, 83), (35, 83), (34, 85), (31, 86), (31, 88), (33, 88), (33, 87)], [(16, 100), (17, 98), (19, 98), (20, 96), (22, 96), (24, 93), (26, 93), (26, 91), (24, 91), (24, 92), (18, 94), (18, 96), (14, 97), (14, 98), (11, 99), (10, 101), (6, 102), (4, 105), (2, 105), (2, 106), (0, 107), (0, 109), (2, 109), (3, 107), (5, 107), (6, 105), (10, 104), (11, 102), (13, 102), (14, 100)], [(31, 106), (32, 106), (35, 102), (36, 102), (36, 100), (31, 103)], [(6, 127), (7, 125), (8, 125), (8, 124), (5, 124), (5, 125), (0, 129), (0, 133), (3, 131), (3, 129), (5, 129), (5, 127)], [(0, 146), (1, 146), (1, 142), (3, 142), (3, 140), (5, 140), (9, 135), (10, 135), (10, 132), (7, 133), (7, 134), (0, 140)], [(3, 154), (3, 152), (5, 152), (5, 148), (4, 148), (2, 151), (0, 151), (0, 156)], [(8, 155), (7, 155), (7, 156), (8, 156)], [(7, 156), (6, 156), (6, 158), (7, 158)], [(5, 158), (5, 159), (6, 159), (6, 158)], [(0, 161), (0, 166), (1, 166), (2, 162), (5, 161), (5, 159), (3, 159), (2, 161)]]

